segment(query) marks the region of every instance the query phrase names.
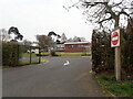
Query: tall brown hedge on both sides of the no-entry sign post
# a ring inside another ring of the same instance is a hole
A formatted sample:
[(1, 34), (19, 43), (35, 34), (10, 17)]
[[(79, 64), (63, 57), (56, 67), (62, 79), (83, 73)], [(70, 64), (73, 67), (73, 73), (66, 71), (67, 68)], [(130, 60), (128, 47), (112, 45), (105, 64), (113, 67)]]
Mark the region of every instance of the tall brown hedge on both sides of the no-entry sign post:
[[(121, 61), (122, 76), (133, 75), (133, 28), (131, 32), (121, 32)], [(111, 47), (111, 35), (105, 32), (92, 34), (92, 70), (114, 70), (114, 48)]]

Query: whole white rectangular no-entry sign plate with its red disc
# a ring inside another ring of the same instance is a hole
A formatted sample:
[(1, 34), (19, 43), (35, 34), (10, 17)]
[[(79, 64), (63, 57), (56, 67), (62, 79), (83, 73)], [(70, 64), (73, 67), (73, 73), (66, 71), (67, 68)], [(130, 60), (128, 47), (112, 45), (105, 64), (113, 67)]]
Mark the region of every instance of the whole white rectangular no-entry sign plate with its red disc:
[(115, 30), (111, 34), (111, 47), (120, 46), (120, 30)]

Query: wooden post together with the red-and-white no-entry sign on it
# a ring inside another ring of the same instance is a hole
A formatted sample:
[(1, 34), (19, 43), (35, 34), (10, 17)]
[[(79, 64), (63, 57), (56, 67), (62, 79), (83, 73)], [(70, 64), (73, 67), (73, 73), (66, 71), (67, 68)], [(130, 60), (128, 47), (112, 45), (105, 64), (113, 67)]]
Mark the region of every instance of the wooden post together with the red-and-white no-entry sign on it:
[(121, 48), (120, 48), (120, 29), (111, 34), (111, 47), (115, 47), (115, 77), (121, 80)]

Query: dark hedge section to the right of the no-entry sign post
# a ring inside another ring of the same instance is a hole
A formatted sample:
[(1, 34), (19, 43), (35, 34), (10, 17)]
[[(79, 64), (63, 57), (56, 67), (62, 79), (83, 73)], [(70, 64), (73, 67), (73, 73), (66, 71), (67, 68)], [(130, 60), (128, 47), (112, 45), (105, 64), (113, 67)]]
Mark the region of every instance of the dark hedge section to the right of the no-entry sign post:
[(133, 75), (133, 28), (131, 32), (121, 31), (123, 34), (121, 55), (123, 74)]

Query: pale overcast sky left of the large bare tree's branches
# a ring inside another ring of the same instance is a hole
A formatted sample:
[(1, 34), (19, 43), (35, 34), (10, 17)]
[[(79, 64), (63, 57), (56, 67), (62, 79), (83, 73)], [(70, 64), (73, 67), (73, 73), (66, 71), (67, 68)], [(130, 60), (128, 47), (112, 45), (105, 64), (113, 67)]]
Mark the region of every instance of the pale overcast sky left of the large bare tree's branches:
[(91, 41), (93, 25), (86, 24), (82, 11), (63, 8), (78, 0), (0, 0), (0, 29), (19, 29), (23, 40), (35, 41), (37, 34), (53, 31), (66, 37), (85, 37)]

